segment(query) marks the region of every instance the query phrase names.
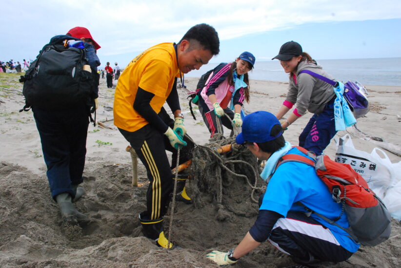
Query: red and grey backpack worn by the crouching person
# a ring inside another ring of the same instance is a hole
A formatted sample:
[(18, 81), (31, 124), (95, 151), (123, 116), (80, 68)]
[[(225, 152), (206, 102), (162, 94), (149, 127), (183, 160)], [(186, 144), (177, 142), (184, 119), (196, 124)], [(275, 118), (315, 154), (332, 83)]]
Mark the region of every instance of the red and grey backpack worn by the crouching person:
[[(315, 167), (317, 175), (326, 184), (332, 193), (334, 202), (341, 203), (341, 214), (334, 220), (310, 210), (301, 202), (297, 204), (305, 207), (310, 213), (315, 213), (328, 223), (346, 231), (352, 238), (365, 246), (376, 246), (390, 237), (391, 216), (380, 198), (369, 189), (363, 177), (355, 172), (348, 164), (337, 163), (327, 155), (318, 155), (306, 149), (294, 146), (302, 153), (315, 159), (311, 160), (299, 154), (285, 154), (278, 162), (276, 169), (285, 162), (300, 162)], [(343, 212), (346, 211), (349, 228), (338, 225)]]

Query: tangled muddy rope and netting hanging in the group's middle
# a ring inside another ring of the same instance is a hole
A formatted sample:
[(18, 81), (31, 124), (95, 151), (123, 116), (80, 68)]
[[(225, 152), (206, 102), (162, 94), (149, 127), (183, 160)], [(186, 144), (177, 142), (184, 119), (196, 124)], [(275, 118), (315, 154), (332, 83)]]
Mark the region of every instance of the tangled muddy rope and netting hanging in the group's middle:
[[(228, 115), (225, 116), (231, 121)], [(204, 205), (202, 192), (212, 193), (218, 209), (217, 219), (225, 220), (228, 215), (223, 211), (222, 204), (224, 180), (226, 184), (230, 184), (233, 178), (243, 178), (252, 189), (250, 197), (255, 203), (258, 203), (254, 198), (255, 191), (264, 191), (266, 186), (258, 187), (258, 181), (261, 181), (261, 178), (257, 158), (244, 146), (235, 143), (235, 136), (239, 133), (239, 128), (234, 127), (233, 137), (226, 138), (222, 134), (220, 118), (217, 121), (218, 133), (209, 139), (208, 144), (195, 146), (189, 172), (193, 176), (190, 183), (194, 195), (192, 198), (194, 205), (198, 208)], [(216, 152), (218, 148), (227, 144), (232, 145), (230, 152), (225, 155)]]

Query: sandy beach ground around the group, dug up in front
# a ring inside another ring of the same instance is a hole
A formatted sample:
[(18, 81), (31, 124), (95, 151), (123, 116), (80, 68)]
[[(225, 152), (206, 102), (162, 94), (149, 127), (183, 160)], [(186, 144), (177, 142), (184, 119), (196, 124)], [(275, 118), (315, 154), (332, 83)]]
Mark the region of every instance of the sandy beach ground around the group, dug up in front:
[[(87, 154), (82, 186), (86, 190), (76, 207), (91, 218), (82, 236), (68, 240), (61, 228), (60, 212), (50, 196), (40, 137), (31, 111), (19, 113), (24, 105), (19, 76), (0, 74), (0, 267), (2, 268), (163, 268), (218, 267), (205, 258), (211, 250), (228, 250), (241, 241), (253, 225), (258, 206), (251, 198), (251, 188), (242, 179), (227, 182), (223, 190), (229, 218), (216, 219), (216, 208), (205, 193), (201, 208), (176, 203), (173, 240), (182, 249), (165, 250), (145, 238), (138, 214), (145, 209), (147, 185), (131, 187), (132, 164), (125, 151), (128, 142), (113, 125), (114, 89), (100, 79), (100, 105), (97, 120), (109, 128), (89, 125)], [(252, 75), (251, 75), (252, 78)], [(197, 78), (185, 79), (195, 90)], [(251, 100), (247, 112), (265, 110), (275, 113), (281, 106), (288, 83), (251, 80)], [(369, 86), (370, 112), (358, 119), (358, 129), (400, 148), (401, 86)], [(205, 144), (209, 132), (196, 113), (189, 114), (186, 92), (179, 90), (181, 109), (186, 113), (188, 134), (197, 144)], [(167, 111), (169, 109), (166, 106)], [(196, 111), (196, 110), (195, 110)], [(284, 133), (286, 140), (298, 145), (298, 136), (311, 117), (306, 114)], [(371, 152), (378, 142), (367, 136), (341, 131), (336, 138), (350, 133), (359, 150)], [(226, 130), (225, 135), (229, 132)], [(337, 146), (333, 140), (324, 153), (334, 159)], [(401, 161), (385, 151), (393, 163)], [(169, 153), (169, 156), (171, 154)], [(143, 165), (138, 165), (139, 183), (147, 182)], [(187, 183), (189, 194), (191, 183)], [(165, 217), (165, 229), (169, 219)], [(237, 268), (284, 267), (295, 265), (291, 258), (270, 243), (241, 258)], [(324, 266), (327, 267), (327, 266)], [(349, 260), (329, 267), (401, 267), (401, 227), (392, 220), (392, 233), (386, 242), (361, 247)]]

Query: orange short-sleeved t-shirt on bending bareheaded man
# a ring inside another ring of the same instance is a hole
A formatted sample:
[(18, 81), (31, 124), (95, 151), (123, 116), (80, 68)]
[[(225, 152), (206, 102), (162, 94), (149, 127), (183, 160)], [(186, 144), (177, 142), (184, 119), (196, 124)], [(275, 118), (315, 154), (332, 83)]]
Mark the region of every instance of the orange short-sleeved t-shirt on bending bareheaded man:
[(161, 43), (135, 57), (121, 73), (114, 94), (114, 124), (135, 132), (148, 122), (134, 109), (138, 87), (153, 93), (152, 109), (159, 114), (179, 76), (173, 43)]

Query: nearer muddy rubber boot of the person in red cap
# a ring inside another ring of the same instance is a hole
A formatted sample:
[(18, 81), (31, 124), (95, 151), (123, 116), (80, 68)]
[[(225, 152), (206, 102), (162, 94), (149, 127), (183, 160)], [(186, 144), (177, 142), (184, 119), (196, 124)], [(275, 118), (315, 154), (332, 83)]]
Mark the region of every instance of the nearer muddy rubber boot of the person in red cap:
[(56, 201), (59, 204), (61, 218), (64, 224), (77, 225), (78, 223), (87, 223), (89, 218), (82, 214), (72, 204), (71, 195), (67, 192), (60, 193), (56, 196)]

